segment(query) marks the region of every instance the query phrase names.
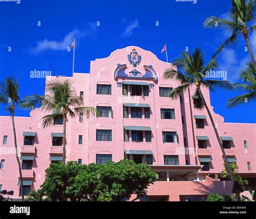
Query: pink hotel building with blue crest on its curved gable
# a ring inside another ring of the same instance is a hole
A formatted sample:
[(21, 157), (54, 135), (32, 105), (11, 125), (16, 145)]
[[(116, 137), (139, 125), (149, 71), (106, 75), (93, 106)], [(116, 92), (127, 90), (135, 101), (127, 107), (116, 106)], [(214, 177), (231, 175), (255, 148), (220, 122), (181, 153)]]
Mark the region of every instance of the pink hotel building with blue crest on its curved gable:
[[(220, 178), (224, 161), (217, 138), (206, 110), (197, 109), (194, 90), (179, 100), (168, 97), (179, 85), (163, 78), (170, 67), (176, 68), (150, 51), (129, 46), (91, 61), (89, 74), (74, 73), (70, 78), (78, 95), (100, 116), (68, 118), (66, 161), (104, 164), (108, 159), (132, 159), (149, 164), (158, 179), (141, 201), (194, 201), (213, 192), (231, 194), (231, 182)], [(211, 106), (208, 89), (203, 93)], [(256, 125), (225, 123), (213, 107), (210, 110), (228, 161), (237, 163), (239, 174), (249, 181), (246, 189), (254, 189)], [(62, 160), (62, 120), (43, 129), (46, 113), (35, 109), (30, 117), (15, 117), (25, 194), (39, 189), (45, 169)], [(20, 199), (9, 116), (0, 117), (0, 137), (0, 190), (14, 190), (12, 197)]]

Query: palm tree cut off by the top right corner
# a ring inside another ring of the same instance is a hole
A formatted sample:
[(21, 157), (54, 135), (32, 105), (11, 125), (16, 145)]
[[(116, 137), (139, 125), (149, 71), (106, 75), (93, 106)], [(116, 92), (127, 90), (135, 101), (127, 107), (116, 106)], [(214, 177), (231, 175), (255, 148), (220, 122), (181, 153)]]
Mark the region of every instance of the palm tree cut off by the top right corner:
[(228, 20), (214, 16), (208, 17), (204, 22), (204, 27), (225, 27), (227, 31), (232, 32), (232, 35), (220, 45), (213, 57), (220, 53), (224, 47), (234, 46), (237, 42), (238, 34), (242, 33), (251, 56), (253, 67), (256, 70), (256, 62), (248, 38), (248, 33), (252, 33), (256, 29), (256, 25), (248, 26), (248, 23), (253, 22), (254, 19), (254, 0), (232, 0), (232, 8), (230, 9)]

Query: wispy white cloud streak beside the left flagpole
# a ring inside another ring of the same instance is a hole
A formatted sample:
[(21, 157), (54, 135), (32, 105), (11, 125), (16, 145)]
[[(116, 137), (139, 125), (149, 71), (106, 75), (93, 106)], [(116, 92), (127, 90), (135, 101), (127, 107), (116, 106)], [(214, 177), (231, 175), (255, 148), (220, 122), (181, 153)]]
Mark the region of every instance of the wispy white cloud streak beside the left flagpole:
[(30, 48), (30, 52), (32, 54), (39, 54), (44, 51), (53, 50), (53, 51), (61, 51), (66, 50), (68, 46), (71, 45), (74, 38), (81, 39), (83, 37), (94, 37), (96, 33), (96, 25), (93, 23), (89, 23), (89, 27), (85, 30), (74, 29), (73, 31), (66, 34), (63, 40), (48, 40), (44, 39), (42, 41), (37, 42), (37, 46)]

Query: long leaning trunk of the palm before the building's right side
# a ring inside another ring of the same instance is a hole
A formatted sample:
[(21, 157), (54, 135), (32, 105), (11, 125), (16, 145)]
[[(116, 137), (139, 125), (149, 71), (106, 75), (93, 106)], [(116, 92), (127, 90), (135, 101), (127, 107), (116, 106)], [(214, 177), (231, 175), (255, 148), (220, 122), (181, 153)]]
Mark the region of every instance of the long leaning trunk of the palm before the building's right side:
[(215, 123), (214, 123), (214, 121), (213, 121), (211, 112), (210, 112), (209, 108), (207, 107), (207, 104), (206, 104), (204, 95), (203, 95), (203, 93), (201, 92), (201, 89), (198, 88), (198, 91), (199, 91), (199, 94), (200, 94), (201, 99), (203, 100), (203, 104), (204, 104), (204, 106), (205, 106), (205, 108), (206, 108), (206, 111), (207, 111), (207, 113), (208, 113), (208, 116), (210, 117), (210, 120), (211, 120), (213, 129), (214, 129), (215, 135), (216, 135), (216, 137), (217, 137), (217, 140), (218, 140), (218, 143), (219, 143), (221, 152), (222, 152), (222, 154), (223, 154), (223, 160), (224, 160), (224, 162), (225, 162), (225, 164), (226, 164), (226, 166), (227, 166), (227, 171), (228, 171), (228, 173), (230, 174), (230, 180), (232, 181), (232, 185), (233, 185), (233, 184), (234, 184), (233, 174), (232, 174), (230, 165), (228, 164), (227, 156), (226, 156), (225, 150), (224, 150), (224, 148), (223, 148), (223, 145), (222, 145), (222, 143), (221, 143), (221, 140), (220, 140), (220, 137), (219, 137), (219, 133), (218, 133), (216, 127), (215, 127)]

